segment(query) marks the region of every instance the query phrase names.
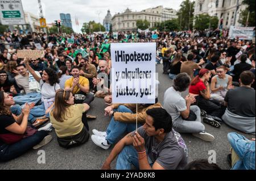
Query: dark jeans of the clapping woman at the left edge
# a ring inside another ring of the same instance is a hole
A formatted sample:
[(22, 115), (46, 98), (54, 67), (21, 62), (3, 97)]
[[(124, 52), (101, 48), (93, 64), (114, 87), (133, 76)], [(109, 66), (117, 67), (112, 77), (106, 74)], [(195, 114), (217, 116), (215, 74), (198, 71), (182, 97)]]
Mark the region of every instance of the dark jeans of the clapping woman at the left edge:
[(47, 135), (47, 131), (39, 131), (30, 137), (16, 142), (15, 144), (4, 144), (0, 146), (0, 161), (7, 162), (11, 159), (19, 157), (20, 155), (26, 153), (28, 150), (32, 149), (33, 146), (38, 145), (39, 142), (41, 142)]

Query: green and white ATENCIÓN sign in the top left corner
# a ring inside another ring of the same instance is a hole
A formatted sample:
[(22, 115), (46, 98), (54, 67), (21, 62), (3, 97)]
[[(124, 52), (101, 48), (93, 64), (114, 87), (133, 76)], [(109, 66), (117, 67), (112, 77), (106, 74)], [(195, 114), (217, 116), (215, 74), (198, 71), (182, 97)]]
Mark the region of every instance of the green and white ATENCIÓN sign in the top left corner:
[(0, 1), (0, 18), (3, 25), (26, 24), (22, 1)]

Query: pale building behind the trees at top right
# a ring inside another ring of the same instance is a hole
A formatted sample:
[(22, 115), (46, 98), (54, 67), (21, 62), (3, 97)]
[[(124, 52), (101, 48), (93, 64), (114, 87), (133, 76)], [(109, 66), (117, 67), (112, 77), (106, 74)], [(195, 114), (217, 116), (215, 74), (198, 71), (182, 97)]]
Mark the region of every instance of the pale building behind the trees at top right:
[(219, 20), (223, 19), (223, 28), (226, 29), (230, 26), (241, 26), (238, 20), (240, 19), (241, 12), (246, 9), (246, 5), (242, 5), (242, 1), (196, 0), (194, 16), (203, 13), (217, 16)]

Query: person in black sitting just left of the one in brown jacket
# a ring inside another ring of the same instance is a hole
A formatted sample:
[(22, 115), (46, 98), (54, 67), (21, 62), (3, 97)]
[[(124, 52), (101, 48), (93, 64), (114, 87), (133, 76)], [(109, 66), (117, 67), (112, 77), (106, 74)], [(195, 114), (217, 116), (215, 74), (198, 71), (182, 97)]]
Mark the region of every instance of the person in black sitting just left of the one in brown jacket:
[(180, 69), (182, 64), (181, 59), (182, 59), (182, 54), (176, 53), (175, 58), (174, 60), (172, 60), (170, 65), (170, 74), (169, 74), (170, 79), (175, 79), (177, 77), (177, 74), (180, 74)]

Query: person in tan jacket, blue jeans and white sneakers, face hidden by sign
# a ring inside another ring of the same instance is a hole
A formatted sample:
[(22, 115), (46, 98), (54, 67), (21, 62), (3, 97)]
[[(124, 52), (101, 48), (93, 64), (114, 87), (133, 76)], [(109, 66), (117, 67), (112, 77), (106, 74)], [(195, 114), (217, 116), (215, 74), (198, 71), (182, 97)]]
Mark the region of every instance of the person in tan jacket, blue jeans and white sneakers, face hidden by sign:
[[(138, 127), (144, 124), (146, 111), (159, 108), (158, 99), (155, 104), (138, 104)], [(113, 104), (105, 108), (105, 116), (112, 116), (106, 132), (93, 129), (92, 141), (103, 149), (109, 149), (117, 142), (123, 133), (130, 133), (136, 129), (136, 104)]]

